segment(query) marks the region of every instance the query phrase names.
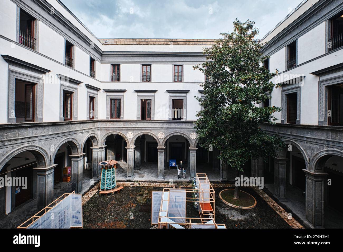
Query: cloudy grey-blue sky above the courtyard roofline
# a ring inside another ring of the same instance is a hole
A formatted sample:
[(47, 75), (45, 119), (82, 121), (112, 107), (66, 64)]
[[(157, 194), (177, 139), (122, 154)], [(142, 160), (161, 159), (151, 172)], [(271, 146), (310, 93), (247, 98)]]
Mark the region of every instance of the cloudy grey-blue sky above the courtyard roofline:
[(98, 38), (218, 38), (254, 20), (262, 38), (301, 0), (61, 0)]

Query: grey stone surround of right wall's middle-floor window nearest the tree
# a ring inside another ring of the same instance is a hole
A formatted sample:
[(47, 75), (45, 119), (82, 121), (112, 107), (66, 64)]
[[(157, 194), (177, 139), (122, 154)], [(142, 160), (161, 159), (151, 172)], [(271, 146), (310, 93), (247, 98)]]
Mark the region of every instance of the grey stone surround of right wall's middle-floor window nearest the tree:
[(297, 93), (297, 120), (296, 124), (300, 124), (300, 115), (301, 115), (301, 86), (299, 84), (292, 85), (283, 85), (281, 91), (281, 123), (287, 123), (287, 99), (286, 95)]

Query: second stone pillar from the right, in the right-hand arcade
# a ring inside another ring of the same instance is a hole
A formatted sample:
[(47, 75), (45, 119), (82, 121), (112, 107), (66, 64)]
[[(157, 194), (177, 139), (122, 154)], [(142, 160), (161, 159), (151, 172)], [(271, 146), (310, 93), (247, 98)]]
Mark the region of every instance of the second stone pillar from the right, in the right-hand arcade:
[(274, 172), (274, 196), (280, 202), (286, 200), (286, 169), (287, 158), (274, 157), (275, 172)]

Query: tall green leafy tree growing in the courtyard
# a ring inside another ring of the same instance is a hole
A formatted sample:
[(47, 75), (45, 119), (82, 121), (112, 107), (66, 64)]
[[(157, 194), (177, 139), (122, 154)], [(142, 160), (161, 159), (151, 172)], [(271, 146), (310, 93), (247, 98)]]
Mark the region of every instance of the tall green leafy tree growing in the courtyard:
[[(201, 84), (206, 98), (196, 97), (203, 110), (195, 128), (200, 146), (217, 148), (218, 158), (239, 176), (248, 160), (274, 155), (282, 141), (260, 128), (263, 121), (273, 124), (273, 113), (280, 111), (275, 106), (259, 106), (271, 98), (274, 84), (270, 80), (277, 70), (271, 73), (263, 66), (268, 57), (261, 54), (263, 45), (255, 40), (255, 22), (236, 19), (233, 24), (232, 33), (222, 33), (223, 38), (204, 48), (206, 62), (194, 67), (208, 76)], [(238, 192), (236, 187), (234, 199)]]

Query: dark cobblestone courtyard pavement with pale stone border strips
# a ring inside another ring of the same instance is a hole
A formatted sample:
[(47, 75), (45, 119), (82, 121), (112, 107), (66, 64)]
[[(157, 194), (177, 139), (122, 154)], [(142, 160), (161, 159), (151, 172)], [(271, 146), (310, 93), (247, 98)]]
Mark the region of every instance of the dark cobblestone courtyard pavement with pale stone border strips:
[[(118, 182), (124, 190), (113, 195), (99, 196), (99, 183), (83, 196), (84, 228), (151, 228), (151, 191), (172, 187), (169, 183)], [(190, 187), (186, 181), (180, 187)], [(219, 192), (232, 184), (212, 184), (216, 192), (215, 221), (227, 228), (302, 228), (262, 190), (241, 188), (257, 200), (255, 208), (236, 209), (219, 198)], [(187, 205), (187, 217), (199, 217), (192, 203)], [(156, 228), (153, 226), (152, 228)]]

